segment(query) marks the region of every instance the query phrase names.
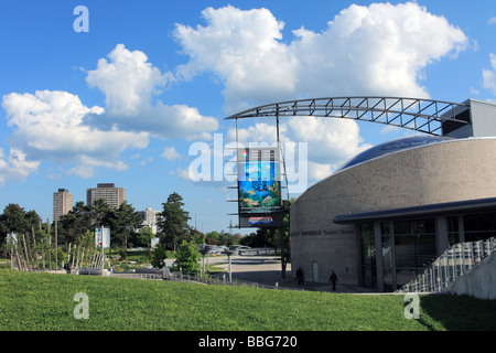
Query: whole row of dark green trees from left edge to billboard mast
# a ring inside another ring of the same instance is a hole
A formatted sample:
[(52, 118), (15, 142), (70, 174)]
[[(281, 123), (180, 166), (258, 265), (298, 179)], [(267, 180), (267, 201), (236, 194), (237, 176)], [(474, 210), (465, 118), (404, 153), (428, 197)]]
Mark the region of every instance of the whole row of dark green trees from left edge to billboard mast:
[[(285, 203), (287, 213), (290, 203)], [(152, 237), (159, 238), (155, 248), (155, 265), (165, 258), (165, 252), (176, 252), (183, 243), (226, 245), (247, 245), (250, 247), (280, 247), (279, 229), (258, 228), (250, 235), (242, 237), (240, 234), (231, 235), (223, 232), (209, 232), (203, 234), (188, 225), (190, 213), (184, 210), (183, 197), (173, 192), (166, 202), (162, 203), (159, 214), (158, 234), (143, 226), (143, 220), (139, 212), (126, 201), (118, 207), (110, 207), (105, 200), (97, 200), (91, 205), (76, 202), (73, 210), (60, 217), (56, 223), (57, 245), (67, 248), (69, 244), (75, 246), (94, 247), (95, 228), (106, 226), (110, 228), (110, 244), (112, 248), (122, 248), (125, 252), (131, 246), (150, 247)], [(9, 233), (30, 234), (33, 240), (55, 244), (55, 223), (42, 222), (35, 211), (24, 211), (18, 204), (9, 204), (0, 215), (0, 245), (3, 252), (9, 252), (6, 238)], [(284, 248), (289, 254), (289, 221), (284, 216)], [(153, 264), (152, 264), (153, 265)]]

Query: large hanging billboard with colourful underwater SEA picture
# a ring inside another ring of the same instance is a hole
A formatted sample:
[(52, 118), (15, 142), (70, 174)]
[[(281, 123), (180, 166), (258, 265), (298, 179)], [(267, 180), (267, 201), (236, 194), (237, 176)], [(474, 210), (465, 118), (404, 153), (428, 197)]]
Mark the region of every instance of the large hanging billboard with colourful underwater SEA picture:
[(239, 225), (280, 226), (282, 197), (279, 149), (241, 148), (237, 152)]

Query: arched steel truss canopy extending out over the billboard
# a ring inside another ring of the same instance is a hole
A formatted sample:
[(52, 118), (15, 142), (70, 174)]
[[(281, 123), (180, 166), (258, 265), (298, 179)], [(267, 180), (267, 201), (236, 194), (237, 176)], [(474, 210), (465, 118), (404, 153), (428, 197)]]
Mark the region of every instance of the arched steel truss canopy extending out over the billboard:
[(273, 103), (227, 117), (242, 119), (258, 117), (315, 116), (344, 118), (391, 125), (419, 132), (442, 136), (445, 122), (470, 124), (466, 103), (451, 103), (402, 97), (330, 97)]

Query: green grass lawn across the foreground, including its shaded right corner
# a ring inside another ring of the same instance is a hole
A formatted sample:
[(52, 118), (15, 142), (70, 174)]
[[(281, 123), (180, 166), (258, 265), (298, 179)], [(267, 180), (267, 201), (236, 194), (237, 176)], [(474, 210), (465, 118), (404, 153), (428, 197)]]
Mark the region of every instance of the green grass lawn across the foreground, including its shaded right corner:
[[(75, 319), (74, 296), (89, 319)], [(0, 330), (11, 331), (423, 331), (495, 330), (496, 301), (421, 296), (420, 319), (403, 296), (362, 296), (204, 286), (0, 269)]]

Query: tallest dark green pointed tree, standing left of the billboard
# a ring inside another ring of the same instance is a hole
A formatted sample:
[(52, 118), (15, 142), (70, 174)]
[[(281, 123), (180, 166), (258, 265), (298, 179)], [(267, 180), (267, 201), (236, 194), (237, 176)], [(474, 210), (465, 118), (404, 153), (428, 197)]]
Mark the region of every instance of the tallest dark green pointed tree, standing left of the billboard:
[(168, 197), (166, 203), (162, 203), (163, 212), (160, 226), (160, 243), (166, 245), (172, 250), (177, 248), (177, 245), (188, 234), (187, 221), (191, 220), (190, 213), (183, 210), (183, 197), (177, 193), (172, 193)]

